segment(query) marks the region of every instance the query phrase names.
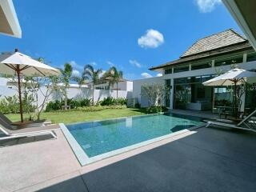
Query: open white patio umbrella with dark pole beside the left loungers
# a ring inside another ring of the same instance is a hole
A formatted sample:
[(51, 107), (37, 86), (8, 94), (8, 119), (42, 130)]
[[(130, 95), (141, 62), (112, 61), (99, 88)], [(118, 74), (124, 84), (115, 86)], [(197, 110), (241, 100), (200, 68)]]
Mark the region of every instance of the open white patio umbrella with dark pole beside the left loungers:
[(58, 75), (59, 73), (59, 70), (47, 66), (42, 62), (38, 62), (26, 54), (19, 53), (17, 49), (14, 53), (0, 55), (0, 74), (17, 75), (18, 78), (18, 98), (21, 122), (23, 122), (21, 76), (44, 77)]

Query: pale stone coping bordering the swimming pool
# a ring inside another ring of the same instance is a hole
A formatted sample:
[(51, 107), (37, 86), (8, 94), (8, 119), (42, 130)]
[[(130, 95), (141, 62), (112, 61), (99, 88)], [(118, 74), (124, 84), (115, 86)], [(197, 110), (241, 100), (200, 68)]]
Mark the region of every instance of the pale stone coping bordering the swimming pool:
[[(146, 114), (146, 115), (151, 115), (151, 114)], [(144, 115), (138, 115), (138, 116), (144, 116)], [(130, 118), (131, 117), (138, 117), (138, 116), (130, 116)], [(125, 117), (122, 117), (122, 118), (125, 118)], [(112, 119), (117, 119), (117, 118), (112, 118)], [(104, 121), (104, 120), (98, 120), (98, 121), (93, 121), (93, 122), (100, 122), (100, 121)], [(74, 124), (77, 124), (77, 123), (74, 123)], [(198, 129), (202, 126), (205, 126), (205, 125), (206, 125), (206, 123), (202, 123), (201, 125), (198, 125), (198, 126), (193, 126), (193, 127), (188, 128), (188, 129), (179, 130), (177, 132), (166, 134), (166, 135), (163, 135), (163, 136), (158, 137), (158, 138), (152, 138), (150, 140), (146, 140), (144, 142), (139, 142), (139, 143), (136, 143), (136, 144), (131, 145), (131, 146), (122, 147), (118, 150), (112, 150), (112, 151), (106, 152), (104, 154), (98, 154), (98, 155), (90, 158), (86, 154), (86, 152), (82, 149), (82, 147), (78, 144), (78, 142), (73, 137), (73, 135), (70, 133), (70, 130), (68, 130), (67, 127), (64, 125), (64, 123), (59, 123), (59, 126), (61, 127), (62, 133), (65, 135), (66, 140), (70, 144), (70, 148), (73, 150), (73, 152), (74, 152), (76, 158), (78, 159), (78, 162), (80, 162), (81, 166), (86, 166), (90, 163), (98, 162), (98, 161), (101, 161), (102, 159), (105, 159), (105, 158), (110, 158), (110, 157), (113, 157), (113, 156), (118, 155), (118, 154), (123, 154), (123, 153), (126, 153), (126, 152), (130, 151), (130, 150), (135, 150), (135, 149), (138, 149), (140, 147), (152, 144), (154, 142), (160, 142), (162, 140), (165, 140), (166, 138), (173, 138), (173, 137), (175, 137), (179, 134), (185, 134), (187, 132), (190, 132), (191, 130), (196, 130), (196, 129)]]

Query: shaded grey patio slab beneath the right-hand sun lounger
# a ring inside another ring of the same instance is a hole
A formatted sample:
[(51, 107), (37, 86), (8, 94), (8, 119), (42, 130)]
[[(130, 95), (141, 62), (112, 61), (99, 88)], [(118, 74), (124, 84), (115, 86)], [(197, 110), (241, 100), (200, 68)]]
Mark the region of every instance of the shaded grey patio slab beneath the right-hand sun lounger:
[(253, 132), (209, 127), (180, 142), (256, 167), (255, 139)]

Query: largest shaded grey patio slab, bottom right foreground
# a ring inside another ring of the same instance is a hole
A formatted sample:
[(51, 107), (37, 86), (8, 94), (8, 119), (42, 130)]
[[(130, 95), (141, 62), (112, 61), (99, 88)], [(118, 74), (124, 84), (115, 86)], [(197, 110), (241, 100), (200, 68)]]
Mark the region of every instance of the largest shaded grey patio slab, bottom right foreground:
[(255, 191), (254, 167), (178, 141), (82, 177), (90, 191)]

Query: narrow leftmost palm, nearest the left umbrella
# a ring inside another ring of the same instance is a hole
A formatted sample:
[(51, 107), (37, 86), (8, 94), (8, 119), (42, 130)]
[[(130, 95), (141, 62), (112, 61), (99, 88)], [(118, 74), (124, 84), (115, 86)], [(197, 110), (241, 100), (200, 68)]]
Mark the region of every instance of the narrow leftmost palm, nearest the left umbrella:
[(60, 69), (62, 75), (61, 75), (61, 81), (64, 85), (64, 99), (65, 99), (65, 106), (64, 109), (67, 110), (67, 89), (70, 87), (70, 80), (72, 77), (72, 71), (73, 67), (70, 65), (70, 63), (66, 62), (64, 65), (64, 70)]

